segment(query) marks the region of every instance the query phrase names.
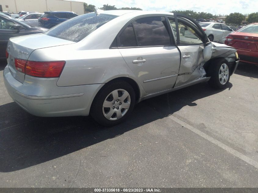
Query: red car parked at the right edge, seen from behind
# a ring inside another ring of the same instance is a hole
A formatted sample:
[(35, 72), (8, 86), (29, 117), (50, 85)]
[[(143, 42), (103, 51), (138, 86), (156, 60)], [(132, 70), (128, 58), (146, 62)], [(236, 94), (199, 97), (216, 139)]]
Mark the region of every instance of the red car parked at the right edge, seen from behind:
[(251, 23), (229, 34), (224, 44), (237, 49), (241, 62), (258, 65), (258, 23)]

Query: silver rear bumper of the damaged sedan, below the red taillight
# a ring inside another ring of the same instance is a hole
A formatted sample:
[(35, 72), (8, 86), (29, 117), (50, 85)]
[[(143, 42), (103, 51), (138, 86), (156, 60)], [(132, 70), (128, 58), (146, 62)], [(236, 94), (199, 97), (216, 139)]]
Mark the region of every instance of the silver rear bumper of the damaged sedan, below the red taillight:
[(57, 87), (56, 84), (52, 84), (51, 80), (46, 86), (44, 83), (32, 83), (30, 79), (31, 77), (28, 76), (24, 83), (21, 83), (12, 76), (9, 66), (5, 67), (4, 83), (9, 95), (28, 113), (45, 117), (89, 115), (91, 103), (104, 85)]

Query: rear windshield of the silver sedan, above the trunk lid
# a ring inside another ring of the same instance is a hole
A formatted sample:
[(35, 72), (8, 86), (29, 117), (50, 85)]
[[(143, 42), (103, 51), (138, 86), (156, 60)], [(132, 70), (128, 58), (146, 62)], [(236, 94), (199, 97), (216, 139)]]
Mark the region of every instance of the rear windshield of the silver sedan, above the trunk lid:
[(64, 40), (78, 42), (103, 24), (113, 20), (117, 16), (108, 14), (86, 13), (67, 20), (56, 27), (44, 32), (44, 34)]

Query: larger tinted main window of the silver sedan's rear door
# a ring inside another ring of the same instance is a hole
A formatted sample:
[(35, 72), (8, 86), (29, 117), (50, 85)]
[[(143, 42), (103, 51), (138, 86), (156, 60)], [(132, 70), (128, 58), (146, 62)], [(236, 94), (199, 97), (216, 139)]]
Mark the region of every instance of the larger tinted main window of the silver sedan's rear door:
[(144, 17), (133, 22), (139, 46), (171, 45), (165, 17)]

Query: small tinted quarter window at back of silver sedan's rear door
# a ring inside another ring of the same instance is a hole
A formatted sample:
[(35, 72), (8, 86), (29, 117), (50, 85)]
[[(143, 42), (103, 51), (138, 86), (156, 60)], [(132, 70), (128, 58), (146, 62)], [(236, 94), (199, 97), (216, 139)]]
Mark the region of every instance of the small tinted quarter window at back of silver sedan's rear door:
[(120, 39), (120, 46), (119, 47), (134, 47), (134, 46), (137, 46), (132, 23), (125, 28), (125, 30), (119, 36), (119, 39)]

